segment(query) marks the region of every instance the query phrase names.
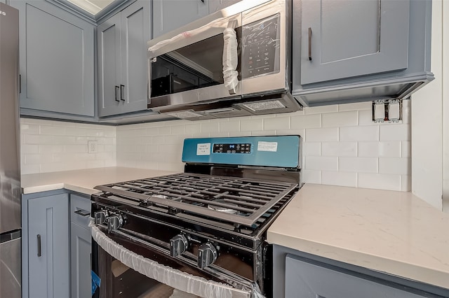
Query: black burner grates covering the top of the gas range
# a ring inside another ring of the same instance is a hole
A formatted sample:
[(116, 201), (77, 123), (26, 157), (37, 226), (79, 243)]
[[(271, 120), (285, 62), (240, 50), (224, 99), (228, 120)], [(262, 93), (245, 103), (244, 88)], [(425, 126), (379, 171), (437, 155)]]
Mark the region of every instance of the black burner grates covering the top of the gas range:
[(297, 184), (196, 173), (177, 173), (95, 187), (142, 206), (157, 204), (171, 212), (195, 213), (234, 225), (251, 226), (274, 213), (276, 204)]

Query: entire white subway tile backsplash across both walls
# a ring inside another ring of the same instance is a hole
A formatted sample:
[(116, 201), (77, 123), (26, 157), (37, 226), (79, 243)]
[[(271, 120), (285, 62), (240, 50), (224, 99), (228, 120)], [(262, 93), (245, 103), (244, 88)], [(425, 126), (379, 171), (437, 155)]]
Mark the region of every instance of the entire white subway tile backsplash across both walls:
[[(403, 117), (409, 113), (405, 109)], [(304, 183), (409, 191), (410, 124), (378, 124), (371, 117), (371, 104), (365, 102), (119, 127), (22, 118), (22, 173), (115, 165), (183, 171), (185, 138), (300, 134)], [(98, 141), (97, 154), (88, 154), (90, 140)]]

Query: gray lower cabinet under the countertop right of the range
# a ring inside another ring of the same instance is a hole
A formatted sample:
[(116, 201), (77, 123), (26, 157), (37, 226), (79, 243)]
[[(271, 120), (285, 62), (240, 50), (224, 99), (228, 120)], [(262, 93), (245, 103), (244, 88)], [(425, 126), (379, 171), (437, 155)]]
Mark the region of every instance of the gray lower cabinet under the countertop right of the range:
[(443, 298), (449, 289), (273, 246), (276, 298)]

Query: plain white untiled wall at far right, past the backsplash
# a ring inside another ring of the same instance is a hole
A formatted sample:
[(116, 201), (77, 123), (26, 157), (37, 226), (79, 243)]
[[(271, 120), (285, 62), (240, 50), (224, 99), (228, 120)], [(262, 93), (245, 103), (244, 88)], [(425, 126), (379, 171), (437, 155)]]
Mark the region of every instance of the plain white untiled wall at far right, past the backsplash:
[[(447, 60), (449, 59), (448, 5), (441, 0), (432, 1), (431, 71), (435, 75), (435, 80), (413, 94), (411, 101), (412, 192), (440, 210), (443, 207), (443, 141), (445, 142), (445, 185), (448, 184), (449, 175), (449, 122), (447, 120), (449, 94), (448, 79), (445, 76), (448, 72)], [(443, 20), (445, 20), (444, 28)], [(443, 43), (446, 45), (444, 48)]]

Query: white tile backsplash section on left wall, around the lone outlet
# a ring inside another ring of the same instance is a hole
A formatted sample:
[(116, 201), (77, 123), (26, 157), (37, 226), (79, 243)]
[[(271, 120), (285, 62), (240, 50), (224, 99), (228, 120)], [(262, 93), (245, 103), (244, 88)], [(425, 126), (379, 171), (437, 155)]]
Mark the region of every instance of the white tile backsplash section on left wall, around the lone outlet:
[[(20, 132), (22, 174), (116, 165), (115, 127), (21, 118)], [(98, 153), (87, 141), (98, 141)]]

